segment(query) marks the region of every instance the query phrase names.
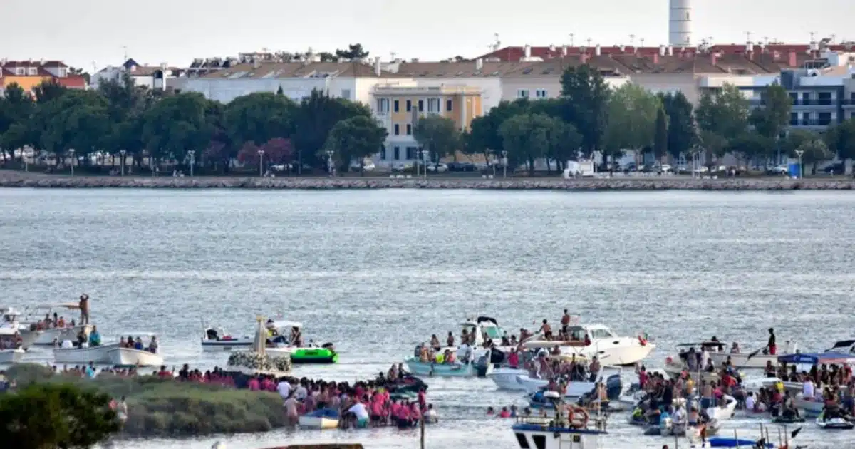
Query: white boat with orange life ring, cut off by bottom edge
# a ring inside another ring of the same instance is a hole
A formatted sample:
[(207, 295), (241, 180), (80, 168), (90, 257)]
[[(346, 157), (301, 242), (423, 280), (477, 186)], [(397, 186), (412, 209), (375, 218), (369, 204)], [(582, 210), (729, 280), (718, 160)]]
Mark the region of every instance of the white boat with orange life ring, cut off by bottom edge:
[(600, 438), (607, 434), (604, 417), (580, 419), (581, 413), (574, 412), (574, 419), (569, 421), (563, 414), (565, 405), (561, 398), (554, 394), (551, 399), (555, 401), (556, 417), (517, 417), (511, 426), (520, 449), (594, 449), (600, 446)]

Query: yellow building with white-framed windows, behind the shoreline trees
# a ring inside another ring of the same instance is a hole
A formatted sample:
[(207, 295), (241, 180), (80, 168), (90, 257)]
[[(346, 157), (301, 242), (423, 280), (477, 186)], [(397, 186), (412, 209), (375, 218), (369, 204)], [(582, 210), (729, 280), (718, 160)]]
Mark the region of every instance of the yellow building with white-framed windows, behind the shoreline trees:
[(475, 117), (483, 115), (481, 88), (471, 86), (374, 86), (374, 112), (386, 127), (386, 145), (375, 157), (384, 167), (403, 167), (419, 159), (419, 145), (413, 128), (420, 117), (442, 115), (469, 129)]

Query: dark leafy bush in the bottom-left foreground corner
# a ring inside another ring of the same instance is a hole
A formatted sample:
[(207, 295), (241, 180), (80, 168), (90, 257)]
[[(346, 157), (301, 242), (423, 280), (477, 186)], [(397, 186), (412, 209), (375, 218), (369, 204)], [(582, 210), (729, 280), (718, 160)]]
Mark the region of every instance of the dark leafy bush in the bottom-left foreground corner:
[(0, 395), (0, 439), (16, 449), (88, 448), (121, 429), (110, 398), (72, 385), (32, 384)]

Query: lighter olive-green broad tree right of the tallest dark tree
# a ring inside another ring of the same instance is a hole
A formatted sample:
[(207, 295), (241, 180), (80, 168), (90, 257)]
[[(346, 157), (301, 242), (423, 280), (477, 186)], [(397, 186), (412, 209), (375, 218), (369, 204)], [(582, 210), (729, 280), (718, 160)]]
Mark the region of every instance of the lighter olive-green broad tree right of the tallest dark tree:
[[(627, 83), (611, 93), (603, 154), (616, 162), (624, 150), (636, 151), (654, 143), (659, 99), (645, 88)], [(638, 161), (636, 161), (638, 162)]]

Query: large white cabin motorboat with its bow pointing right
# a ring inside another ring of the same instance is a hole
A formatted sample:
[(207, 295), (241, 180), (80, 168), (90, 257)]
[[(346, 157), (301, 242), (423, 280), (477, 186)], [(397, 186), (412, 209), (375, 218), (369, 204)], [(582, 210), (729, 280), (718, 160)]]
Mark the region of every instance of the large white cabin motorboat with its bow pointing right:
[[(644, 360), (656, 349), (656, 345), (643, 336), (620, 337), (603, 324), (581, 324), (567, 328), (570, 340), (560, 345), (562, 353), (584, 357), (597, 356), (603, 363), (616, 366), (628, 366)], [(585, 335), (591, 341), (585, 345)], [(540, 340), (543, 341), (543, 340)], [(549, 340), (554, 342), (554, 340)], [(535, 341), (527, 341), (526, 346), (535, 347)]]

